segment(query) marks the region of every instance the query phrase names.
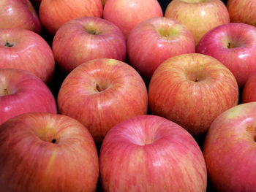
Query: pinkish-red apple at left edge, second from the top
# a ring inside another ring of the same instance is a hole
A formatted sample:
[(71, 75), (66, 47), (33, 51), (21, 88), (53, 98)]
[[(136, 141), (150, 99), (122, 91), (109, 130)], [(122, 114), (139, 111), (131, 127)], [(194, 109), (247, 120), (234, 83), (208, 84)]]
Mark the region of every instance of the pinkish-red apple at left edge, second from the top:
[(24, 69), (44, 82), (53, 77), (53, 52), (45, 39), (33, 31), (1, 28), (0, 58), (0, 68)]

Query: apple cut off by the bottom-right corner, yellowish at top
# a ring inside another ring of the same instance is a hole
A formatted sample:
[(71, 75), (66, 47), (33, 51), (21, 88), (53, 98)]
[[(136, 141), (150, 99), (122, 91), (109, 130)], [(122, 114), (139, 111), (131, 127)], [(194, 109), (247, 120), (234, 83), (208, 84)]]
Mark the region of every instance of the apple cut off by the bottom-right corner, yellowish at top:
[(208, 177), (217, 191), (255, 191), (256, 103), (240, 104), (211, 124), (203, 146)]

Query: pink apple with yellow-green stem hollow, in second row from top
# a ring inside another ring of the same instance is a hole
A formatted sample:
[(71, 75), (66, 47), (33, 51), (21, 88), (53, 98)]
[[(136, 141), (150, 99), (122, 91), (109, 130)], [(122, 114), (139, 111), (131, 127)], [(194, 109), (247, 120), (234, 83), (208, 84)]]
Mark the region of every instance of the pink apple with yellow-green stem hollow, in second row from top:
[(163, 61), (184, 53), (195, 53), (194, 39), (186, 26), (170, 18), (144, 20), (127, 39), (129, 64), (147, 81)]

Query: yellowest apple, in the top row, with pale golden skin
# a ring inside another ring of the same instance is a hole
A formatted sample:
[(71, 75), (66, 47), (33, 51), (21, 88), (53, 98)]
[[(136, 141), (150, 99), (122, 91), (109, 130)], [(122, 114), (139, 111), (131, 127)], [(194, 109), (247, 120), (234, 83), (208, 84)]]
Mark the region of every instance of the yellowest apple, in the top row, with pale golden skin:
[(207, 31), (230, 22), (227, 7), (220, 0), (173, 0), (165, 10), (165, 17), (187, 26), (195, 45)]

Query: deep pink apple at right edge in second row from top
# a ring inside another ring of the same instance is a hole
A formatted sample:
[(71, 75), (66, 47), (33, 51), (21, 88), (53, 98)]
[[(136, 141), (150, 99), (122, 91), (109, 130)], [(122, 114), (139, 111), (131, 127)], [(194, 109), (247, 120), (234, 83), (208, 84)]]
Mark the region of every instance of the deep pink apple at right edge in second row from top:
[(217, 58), (230, 69), (242, 88), (256, 72), (256, 28), (244, 23), (218, 26), (200, 40), (196, 52)]

